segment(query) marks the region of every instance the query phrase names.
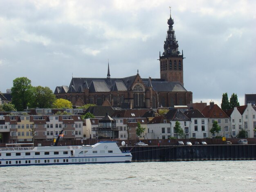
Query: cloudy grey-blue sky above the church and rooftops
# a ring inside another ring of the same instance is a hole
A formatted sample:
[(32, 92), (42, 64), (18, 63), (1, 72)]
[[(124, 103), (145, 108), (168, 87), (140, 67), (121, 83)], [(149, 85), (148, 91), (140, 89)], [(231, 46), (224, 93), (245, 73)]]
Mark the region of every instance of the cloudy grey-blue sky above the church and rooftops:
[(167, 19), (184, 57), (193, 102), (256, 94), (255, 0), (0, 0), (0, 91), (73, 77), (160, 78)]

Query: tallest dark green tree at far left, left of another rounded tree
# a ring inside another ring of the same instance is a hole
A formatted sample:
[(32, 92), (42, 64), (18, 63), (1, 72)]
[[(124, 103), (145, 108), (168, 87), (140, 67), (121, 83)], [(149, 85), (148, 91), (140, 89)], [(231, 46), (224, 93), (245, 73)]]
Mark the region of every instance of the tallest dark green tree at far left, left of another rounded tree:
[(27, 77), (18, 77), (13, 80), (13, 87), (11, 87), (12, 104), (15, 105), (18, 111), (23, 111), (30, 106), (31, 98), (33, 96), (33, 87), (31, 80)]

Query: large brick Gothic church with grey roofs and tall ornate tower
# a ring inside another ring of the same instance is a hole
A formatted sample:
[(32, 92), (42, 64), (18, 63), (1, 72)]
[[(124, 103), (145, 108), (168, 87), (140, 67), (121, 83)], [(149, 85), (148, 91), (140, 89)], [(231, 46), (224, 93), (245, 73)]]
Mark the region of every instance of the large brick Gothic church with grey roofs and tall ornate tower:
[(56, 87), (56, 98), (70, 100), (74, 106), (108, 105), (121, 109), (156, 109), (193, 103), (192, 92), (184, 88), (183, 51), (180, 53), (173, 18), (167, 21), (164, 52), (159, 53), (160, 78), (134, 76), (111, 78), (72, 78), (69, 86)]

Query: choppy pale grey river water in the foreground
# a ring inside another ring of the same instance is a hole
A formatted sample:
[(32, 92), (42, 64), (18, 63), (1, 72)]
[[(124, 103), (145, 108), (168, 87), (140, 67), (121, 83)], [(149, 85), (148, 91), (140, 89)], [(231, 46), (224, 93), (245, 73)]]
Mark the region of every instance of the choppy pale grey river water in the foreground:
[(0, 167), (0, 189), (3, 192), (251, 192), (256, 191), (256, 161)]

